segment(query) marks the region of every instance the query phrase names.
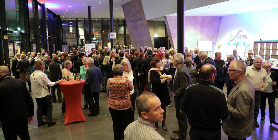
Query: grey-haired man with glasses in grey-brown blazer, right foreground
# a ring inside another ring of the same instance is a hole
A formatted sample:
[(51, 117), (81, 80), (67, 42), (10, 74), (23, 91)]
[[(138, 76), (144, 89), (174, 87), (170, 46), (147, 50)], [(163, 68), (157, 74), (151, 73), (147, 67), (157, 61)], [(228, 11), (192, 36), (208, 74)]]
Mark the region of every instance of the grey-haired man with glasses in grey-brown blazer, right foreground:
[(235, 86), (227, 99), (230, 119), (223, 121), (223, 131), (228, 139), (245, 139), (251, 136), (254, 128), (255, 90), (245, 77), (246, 64), (242, 60), (232, 61), (227, 73)]

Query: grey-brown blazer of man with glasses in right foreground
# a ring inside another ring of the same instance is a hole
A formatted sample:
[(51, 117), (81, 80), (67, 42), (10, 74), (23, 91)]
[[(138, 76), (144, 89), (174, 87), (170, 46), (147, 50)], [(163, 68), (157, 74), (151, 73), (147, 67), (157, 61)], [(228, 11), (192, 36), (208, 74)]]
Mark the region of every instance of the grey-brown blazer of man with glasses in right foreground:
[(255, 90), (248, 78), (232, 89), (227, 106), (230, 119), (223, 121), (224, 133), (237, 139), (251, 136), (254, 128)]

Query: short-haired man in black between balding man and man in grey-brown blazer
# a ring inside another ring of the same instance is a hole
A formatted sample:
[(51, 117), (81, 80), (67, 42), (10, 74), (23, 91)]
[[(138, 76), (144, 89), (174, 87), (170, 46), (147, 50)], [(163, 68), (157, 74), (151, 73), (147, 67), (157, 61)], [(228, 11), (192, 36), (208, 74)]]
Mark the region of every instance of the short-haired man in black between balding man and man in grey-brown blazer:
[(224, 86), (224, 69), (223, 66), (226, 64), (224, 60), (221, 59), (221, 52), (215, 53), (215, 69), (216, 69), (216, 76), (213, 82), (213, 85), (215, 87), (218, 87), (219, 89), (223, 90)]

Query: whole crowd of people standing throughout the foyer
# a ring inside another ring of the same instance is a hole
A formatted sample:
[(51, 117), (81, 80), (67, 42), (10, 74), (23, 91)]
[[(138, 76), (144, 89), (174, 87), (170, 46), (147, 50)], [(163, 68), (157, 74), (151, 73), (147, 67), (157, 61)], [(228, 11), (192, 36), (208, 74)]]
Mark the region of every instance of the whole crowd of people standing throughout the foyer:
[[(38, 126), (53, 126), (52, 103), (62, 102), (62, 114), (65, 115), (65, 99), (62, 98), (59, 82), (64, 82), (63, 76), (73, 79), (73, 73), (80, 73), (85, 80), (82, 94), (84, 106), (89, 108), (88, 116), (100, 113), (99, 92), (106, 93), (109, 112), (113, 121), (114, 139), (164, 139), (156, 129), (159, 122), (167, 131), (167, 106), (171, 103), (169, 90), (174, 93), (174, 104), (178, 129), (171, 136), (173, 140), (185, 139), (190, 124), (190, 139), (221, 139), (221, 120), (223, 131), (229, 140), (246, 139), (251, 136), (253, 127), (259, 126), (257, 118), (261, 108), (261, 120), (265, 119), (266, 98), (269, 103), (269, 118), (271, 124), (275, 121), (275, 95), (277, 95), (278, 76), (270, 71), (271, 64), (263, 62), (259, 56), (248, 51), (244, 61), (237, 49), (227, 55), (227, 61), (222, 60), (221, 52), (215, 53), (212, 59), (205, 51), (195, 48), (185, 53), (177, 53), (177, 49), (165, 47), (114, 46), (92, 48), (88, 56), (84, 48), (78, 47), (70, 52), (57, 51), (51, 57), (43, 50), (16, 54), (12, 61), (12, 75), (6, 66), (0, 66), (0, 90), (5, 91), (1, 97), (14, 98), (15, 91), (21, 90), (17, 107), (7, 108), (0, 115), (5, 139), (20, 136), (29, 137), (26, 129), (27, 121), (33, 121), (33, 100), (37, 102)], [(20, 79), (20, 80), (18, 80)], [(28, 82), (29, 92), (25, 86)], [(2, 84), (3, 83), (3, 84)], [(5, 84), (4, 84), (5, 83)], [(9, 83), (12, 83), (9, 85)], [(223, 87), (227, 86), (227, 96)], [(17, 85), (16, 88), (10, 86)], [(51, 94), (50, 94), (51, 90)], [(11, 94), (11, 95), (8, 95)], [(136, 97), (138, 96), (137, 100)], [(1, 107), (6, 106), (2, 102)], [(9, 103), (10, 104), (10, 103)], [(135, 104), (139, 114), (135, 121)], [(17, 115), (19, 114), (20, 115)], [(11, 122), (23, 121), (14, 124)], [(43, 121), (46, 119), (47, 121)], [(187, 123), (188, 122), (188, 123)], [(250, 125), (254, 124), (254, 125)], [(18, 130), (12, 126), (20, 125)], [(26, 130), (25, 130), (26, 129)], [(7, 131), (16, 131), (8, 133)], [(27, 136), (28, 135), (28, 136)]]

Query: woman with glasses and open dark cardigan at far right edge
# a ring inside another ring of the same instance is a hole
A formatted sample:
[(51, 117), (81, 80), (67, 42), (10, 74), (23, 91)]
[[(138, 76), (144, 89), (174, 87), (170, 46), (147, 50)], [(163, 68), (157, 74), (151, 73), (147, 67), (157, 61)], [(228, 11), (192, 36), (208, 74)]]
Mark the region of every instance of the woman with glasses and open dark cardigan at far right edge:
[[(248, 52), (249, 53), (249, 52)], [(277, 82), (278, 82), (278, 76), (274, 71), (270, 71), (271, 64), (269, 62), (264, 62), (262, 64), (262, 68), (266, 70), (267, 76), (268, 76), (268, 85), (266, 86), (266, 89), (262, 93), (261, 96), (261, 120), (264, 121), (264, 116), (266, 115), (266, 98), (268, 99), (268, 105), (269, 105), (269, 121), (270, 124), (278, 124), (275, 121), (275, 96), (274, 92), (277, 92)]]

